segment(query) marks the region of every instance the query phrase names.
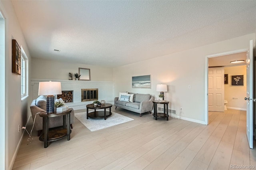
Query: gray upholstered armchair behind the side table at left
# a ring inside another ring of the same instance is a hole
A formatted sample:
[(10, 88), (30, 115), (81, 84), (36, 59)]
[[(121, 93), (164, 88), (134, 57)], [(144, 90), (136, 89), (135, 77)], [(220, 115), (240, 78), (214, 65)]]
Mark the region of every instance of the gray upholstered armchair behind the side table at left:
[[(70, 127), (73, 128), (72, 124), (74, 123), (74, 120), (75, 120), (74, 110), (72, 108), (69, 108), (69, 109), (71, 110)], [(40, 132), (43, 129), (43, 118), (40, 117), (39, 114), (36, 115), (36, 113), (46, 110), (46, 98), (44, 96), (39, 96), (37, 99), (34, 99), (30, 105), (30, 110), (31, 110), (33, 121), (36, 116), (34, 130), (38, 130), (38, 136), (39, 136)], [(51, 117), (49, 119), (49, 128), (60, 127), (62, 125), (63, 125), (62, 116), (61, 117)]]

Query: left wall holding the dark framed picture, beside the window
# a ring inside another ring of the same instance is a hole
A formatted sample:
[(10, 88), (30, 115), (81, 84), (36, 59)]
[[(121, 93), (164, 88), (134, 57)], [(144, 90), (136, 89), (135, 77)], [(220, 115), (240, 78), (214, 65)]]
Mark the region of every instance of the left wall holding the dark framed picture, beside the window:
[[(6, 150), (7, 169), (12, 168), (22, 132), (18, 132), (18, 125), (25, 126), (28, 120), (28, 99), (21, 101), (21, 77), (12, 73), (12, 39), (23, 47), (28, 57), (30, 72), (30, 54), (22, 30), (16, 18), (11, 1), (0, 1), (0, 10), (6, 20)], [(3, 64), (3, 63), (2, 63)], [(28, 77), (30, 79), (30, 77)], [(30, 86), (30, 84), (29, 84)], [(1, 120), (3, 121), (3, 120)], [(3, 130), (3, 129), (2, 129)]]

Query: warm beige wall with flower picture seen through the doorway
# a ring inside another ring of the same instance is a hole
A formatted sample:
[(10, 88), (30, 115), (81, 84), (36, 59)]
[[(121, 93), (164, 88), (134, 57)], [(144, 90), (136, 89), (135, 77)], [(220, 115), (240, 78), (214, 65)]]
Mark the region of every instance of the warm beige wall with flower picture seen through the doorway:
[[(246, 110), (246, 65), (236, 67), (225, 67), (225, 74), (228, 74), (228, 84), (224, 85), (225, 88), (225, 100), (228, 101), (226, 107), (228, 109)], [(231, 76), (232, 75), (244, 75), (243, 86), (232, 86)], [(235, 99), (233, 99), (235, 98)]]

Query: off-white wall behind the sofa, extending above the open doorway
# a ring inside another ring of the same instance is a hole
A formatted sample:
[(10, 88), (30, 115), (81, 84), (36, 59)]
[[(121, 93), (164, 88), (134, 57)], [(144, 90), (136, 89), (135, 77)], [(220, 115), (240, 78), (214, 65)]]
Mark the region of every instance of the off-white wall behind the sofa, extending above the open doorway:
[[(249, 40), (255, 40), (255, 34), (226, 40), (179, 53), (165, 55), (114, 68), (114, 94), (129, 91), (150, 93), (155, 97), (156, 84), (168, 85), (165, 100), (170, 101), (170, 109), (179, 113), (183, 108), (182, 118), (203, 123), (205, 121), (205, 56), (249, 47)], [(151, 89), (132, 89), (132, 76), (151, 75)], [(191, 89), (188, 89), (191, 85)]]

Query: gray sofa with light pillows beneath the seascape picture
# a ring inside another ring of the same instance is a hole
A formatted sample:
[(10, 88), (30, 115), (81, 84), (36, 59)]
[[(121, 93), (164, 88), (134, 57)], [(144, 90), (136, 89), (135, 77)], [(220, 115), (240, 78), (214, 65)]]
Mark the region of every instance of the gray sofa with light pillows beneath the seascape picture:
[[(134, 94), (134, 93), (128, 93)], [(150, 112), (153, 109), (153, 101), (154, 97), (150, 96), (150, 94), (134, 94), (133, 102), (129, 101), (120, 101), (118, 97), (114, 99), (115, 107), (120, 107), (122, 109), (126, 109), (128, 111), (133, 111), (136, 113), (140, 113), (140, 117), (142, 113)]]

